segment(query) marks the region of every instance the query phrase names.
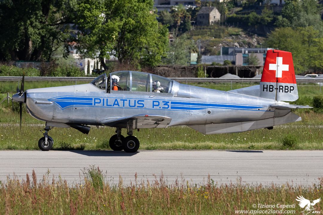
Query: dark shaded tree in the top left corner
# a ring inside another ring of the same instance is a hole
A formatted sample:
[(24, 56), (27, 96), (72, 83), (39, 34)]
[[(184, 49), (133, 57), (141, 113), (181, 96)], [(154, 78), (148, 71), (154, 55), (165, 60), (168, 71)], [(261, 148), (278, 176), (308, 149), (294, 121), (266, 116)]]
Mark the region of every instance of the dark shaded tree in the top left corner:
[(0, 60), (49, 61), (68, 42), (67, 0), (0, 1)]

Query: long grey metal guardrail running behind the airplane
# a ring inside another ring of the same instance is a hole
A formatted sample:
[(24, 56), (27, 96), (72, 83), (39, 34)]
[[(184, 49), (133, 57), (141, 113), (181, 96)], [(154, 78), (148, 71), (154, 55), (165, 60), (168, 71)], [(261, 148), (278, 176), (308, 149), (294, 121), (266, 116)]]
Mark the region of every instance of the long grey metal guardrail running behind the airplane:
[[(84, 81), (91, 82), (96, 77), (25, 77), (25, 81)], [(18, 76), (0, 76), (0, 81), (21, 81)], [(170, 78), (177, 82), (205, 82), (205, 83), (255, 83), (260, 78)], [(323, 79), (302, 78), (296, 79), (297, 83), (323, 83)]]

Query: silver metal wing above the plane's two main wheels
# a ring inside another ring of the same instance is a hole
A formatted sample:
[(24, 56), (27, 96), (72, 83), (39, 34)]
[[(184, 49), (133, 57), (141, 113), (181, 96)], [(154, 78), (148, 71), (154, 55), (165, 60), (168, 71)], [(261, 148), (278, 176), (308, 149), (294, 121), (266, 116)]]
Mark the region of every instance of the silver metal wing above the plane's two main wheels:
[(102, 125), (118, 128), (166, 128), (171, 122), (171, 118), (155, 115), (134, 115), (115, 119), (103, 119)]

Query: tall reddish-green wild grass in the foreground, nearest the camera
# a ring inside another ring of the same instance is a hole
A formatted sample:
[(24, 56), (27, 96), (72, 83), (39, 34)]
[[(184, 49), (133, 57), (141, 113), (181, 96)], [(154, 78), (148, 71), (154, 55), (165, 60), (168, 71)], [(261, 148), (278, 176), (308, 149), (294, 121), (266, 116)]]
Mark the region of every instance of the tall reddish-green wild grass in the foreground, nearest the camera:
[[(99, 167), (91, 167), (89, 171), (93, 170), (99, 171)], [(217, 215), (235, 214), (235, 210), (256, 210), (253, 204), (296, 204), (296, 207), (283, 210), (295, 210), (292, 214), (301, 214), (302, 209), (295, 200), (297, 196), (318, 199), (323, 195), (321, 178), (318, 183), (309, 186), (297, 186), (293, 183), (281, 186), (251, 185), (242, 183), (241, 177), (237, 178), (237, 182), (218, 185), (209, 175), (205, 184), (192, 185), (185, 180), (169, 184), (163, 175), (153, 181), (137, 181), (136, 173), (131, 185), (124, 185), (120, 177), (116, 185), (100, 183), (97, 186), (84, 175), (80, 176), (84, 183), (68, 185), (60, 177), (58, 181), (54, 180), (54, 176), (51, 180), (49, 174), (48, 170), (40, 181), (34, 171), (31, 177), (26, 174), (22, 181), (15, 175), (2, 181), (0, 211), (5, 214)], [(100, 178), (105, 177), (102, 172), (96, 174)], [(323, 203), (319, 202), (315, 208), (322, 206)]]

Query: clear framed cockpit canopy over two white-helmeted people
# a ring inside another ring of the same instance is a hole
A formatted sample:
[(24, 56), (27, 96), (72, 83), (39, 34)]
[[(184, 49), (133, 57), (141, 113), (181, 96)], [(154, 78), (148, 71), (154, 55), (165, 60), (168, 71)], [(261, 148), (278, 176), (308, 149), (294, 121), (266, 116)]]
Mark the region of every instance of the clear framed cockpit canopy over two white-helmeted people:
[(172, 93), (173, 85), (171, 79), (136, 71), (113, 72), (108, 78), (106, 74), (102, 74), (91, 83), (99, 89), (106, 90), (107, 93), (118, 91)]

